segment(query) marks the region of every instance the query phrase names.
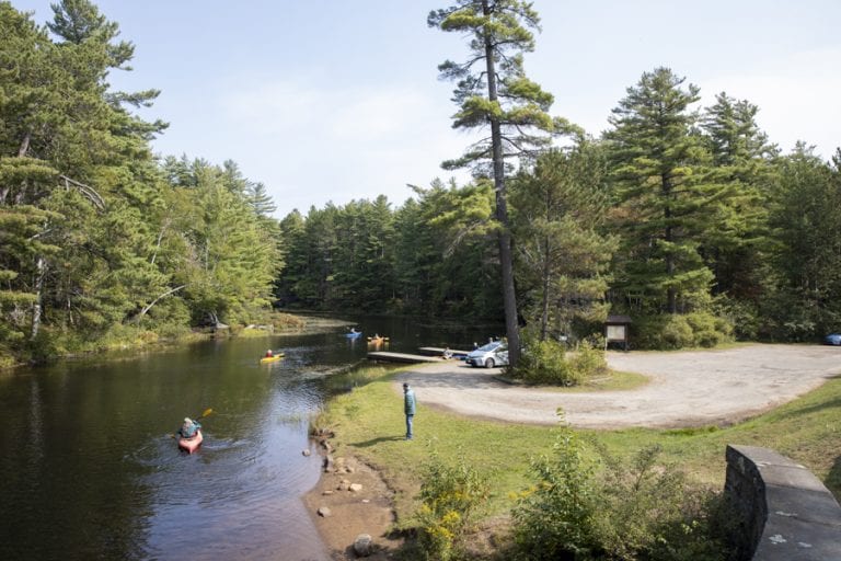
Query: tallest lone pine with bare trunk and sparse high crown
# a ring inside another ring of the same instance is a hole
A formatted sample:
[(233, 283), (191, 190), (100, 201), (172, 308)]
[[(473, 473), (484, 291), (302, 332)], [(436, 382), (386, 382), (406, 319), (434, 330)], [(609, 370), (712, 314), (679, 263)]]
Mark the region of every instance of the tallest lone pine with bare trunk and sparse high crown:
[(519, 359), (520, 341), (505, 159), (528, 156), (534, 148), (546, 146), (549, 137), (532, 131), (553, 129), (546, 113), (552, 95), (529, 80), (522, 68), (523, 53), (534, 49), (529, 30), (539, 28), (539, 22), (531, 3), (520, 0), (459, 0), (450, 8), (433, 11), (427, 19), (430, 26), (471, 37), (469, 59), (463, 64), (448, 60), (439, 70), (442, 78), (458, 82), (453, 101), (459, 112), (453, 116), (453, 127), (489, 126), (491, 136), (443, 165), (472, 165), (477, 174), (494, 180), (505, 324), (512, 366)]

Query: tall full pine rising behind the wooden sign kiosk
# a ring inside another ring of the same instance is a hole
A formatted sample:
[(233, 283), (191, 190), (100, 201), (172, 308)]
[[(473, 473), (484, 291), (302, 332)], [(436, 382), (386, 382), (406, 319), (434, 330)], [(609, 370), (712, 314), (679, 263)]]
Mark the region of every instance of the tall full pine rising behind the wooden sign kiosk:
[(643, 313), (688, 311), (712, 282), (700, 236), (724, 191), (693, 134), (699, 89), (683, 89), (683, 81), (668, 68), (645, 72), (613, 110), (606, 135), (623, 239), (614, 287)]

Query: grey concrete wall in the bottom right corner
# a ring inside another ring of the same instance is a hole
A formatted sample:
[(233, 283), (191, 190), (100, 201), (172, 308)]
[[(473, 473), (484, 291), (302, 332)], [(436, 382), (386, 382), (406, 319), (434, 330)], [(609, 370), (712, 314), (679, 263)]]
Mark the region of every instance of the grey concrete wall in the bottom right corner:
[(726, 457), (738, 559), (841, 561), (841, 506), (818, 478), (768, 448), (729, 445)]

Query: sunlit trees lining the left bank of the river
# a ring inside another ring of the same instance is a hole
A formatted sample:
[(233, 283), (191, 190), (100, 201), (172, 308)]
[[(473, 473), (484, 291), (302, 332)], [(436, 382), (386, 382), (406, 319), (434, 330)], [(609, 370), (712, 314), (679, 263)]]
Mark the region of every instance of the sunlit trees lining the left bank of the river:
[(41, 27), (0, 2), (0, 357), (267, 309), (281, 260), (265, 187), (232, 162), (153, 157), (166, 125), (133, 111), (159, 92), (107, 82), (134, 46), (87, 0), (54, 12)]

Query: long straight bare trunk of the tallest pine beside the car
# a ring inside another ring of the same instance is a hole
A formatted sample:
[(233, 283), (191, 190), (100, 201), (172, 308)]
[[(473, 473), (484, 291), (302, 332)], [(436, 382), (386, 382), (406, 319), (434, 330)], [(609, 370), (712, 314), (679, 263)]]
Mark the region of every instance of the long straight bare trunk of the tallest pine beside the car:
[[(482, 0), (482, 11), (491, 15), (488, 0)], [(497, 101), (496, 65), (491, 33), (485, 33), (485, 62), (487, 65), (487, 96)], [(494, 161), (494, 190), (496, 191), (496, 219), (499, 221), (499, 262), (503, 274), (503, 304), (505, 305), (505, 332), (508, 337), (508, 359), (512, 367), (520, 360), (520, 332), (517, 324), (517, 295), (514, 287), (514, 259), (511, 233), (508, 224), (508, 205), (505, 198), (505, 162), (503, 160), (503, 133), (499, 119), (491, 117), (491, 142)]]

